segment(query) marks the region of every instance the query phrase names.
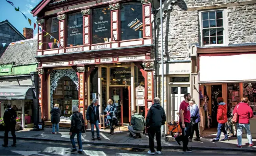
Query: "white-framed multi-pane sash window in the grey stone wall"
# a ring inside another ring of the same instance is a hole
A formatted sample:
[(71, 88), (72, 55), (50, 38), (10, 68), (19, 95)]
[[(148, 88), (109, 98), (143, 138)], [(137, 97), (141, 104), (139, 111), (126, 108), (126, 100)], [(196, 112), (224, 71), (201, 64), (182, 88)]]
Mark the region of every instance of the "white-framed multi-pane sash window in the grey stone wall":
[(227, 22), (226, 10), (199, 12), (201, 27), (201, 45), (226, 45)]

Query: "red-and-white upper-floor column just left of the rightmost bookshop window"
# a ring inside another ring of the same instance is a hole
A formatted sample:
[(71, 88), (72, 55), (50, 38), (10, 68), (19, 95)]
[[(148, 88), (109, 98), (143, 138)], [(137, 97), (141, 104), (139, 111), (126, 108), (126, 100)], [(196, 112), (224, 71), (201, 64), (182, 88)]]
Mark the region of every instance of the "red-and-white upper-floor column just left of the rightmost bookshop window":
[(119, 3), (110, 4), (111, 9), (111, 41), (119, 41)]

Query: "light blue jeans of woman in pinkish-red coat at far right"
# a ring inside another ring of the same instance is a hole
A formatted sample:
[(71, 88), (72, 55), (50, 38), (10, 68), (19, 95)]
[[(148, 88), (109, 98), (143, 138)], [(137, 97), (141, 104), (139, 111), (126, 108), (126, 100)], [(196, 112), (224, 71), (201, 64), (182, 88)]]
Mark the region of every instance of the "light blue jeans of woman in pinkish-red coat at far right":
[(245, 129), (245, 133), (247, 135), (247, 139), (249, 140), (249, 143), (252, 144), (252, 135), (250, 131), (250, 124), (236, 124), (237, 127), (237, 142), (238, 145), (242, 145), (242, 134), (243, 134), (243, 129)]

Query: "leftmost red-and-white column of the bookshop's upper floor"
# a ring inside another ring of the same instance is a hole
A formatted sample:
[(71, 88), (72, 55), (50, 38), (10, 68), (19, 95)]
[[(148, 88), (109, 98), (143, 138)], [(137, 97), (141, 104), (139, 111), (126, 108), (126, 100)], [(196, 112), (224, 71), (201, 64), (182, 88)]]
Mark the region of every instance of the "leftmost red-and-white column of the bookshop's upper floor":
[(38, 41), (38, 47), (37, 47), (37, 56), (40, 56), (40, 55), (43, 55), (43, 48), (42, 48), (42, 44), (40, 43), (43, 43), (44, 42), (44, 38), (43, 38), (43, 25), (44, 25), (44, 19), (40, 19), (40, 20), (37, 20), (37, 25), (38, 25), (38, 28), (37, 28), (37, 31), (38, 31), (38, 35), (37, 35), (37, 41)]

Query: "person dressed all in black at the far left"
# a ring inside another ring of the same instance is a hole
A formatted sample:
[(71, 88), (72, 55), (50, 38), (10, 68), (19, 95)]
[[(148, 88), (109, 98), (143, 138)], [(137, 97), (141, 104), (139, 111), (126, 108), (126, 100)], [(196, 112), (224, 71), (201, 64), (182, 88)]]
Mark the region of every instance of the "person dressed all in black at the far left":
[(17, 114), (13, 108), (11, 108), (11, 104), (7, 104), (7, 110), (4, 111), (4, 144), (3, 147), (8, 146), (8, 133), (11, 129), (11, 135), (13, 136), (13, 144), (11, 146), (16, 146), (16, 135), (15, 135), (15, 125), (16, 125), (16, 117)]

